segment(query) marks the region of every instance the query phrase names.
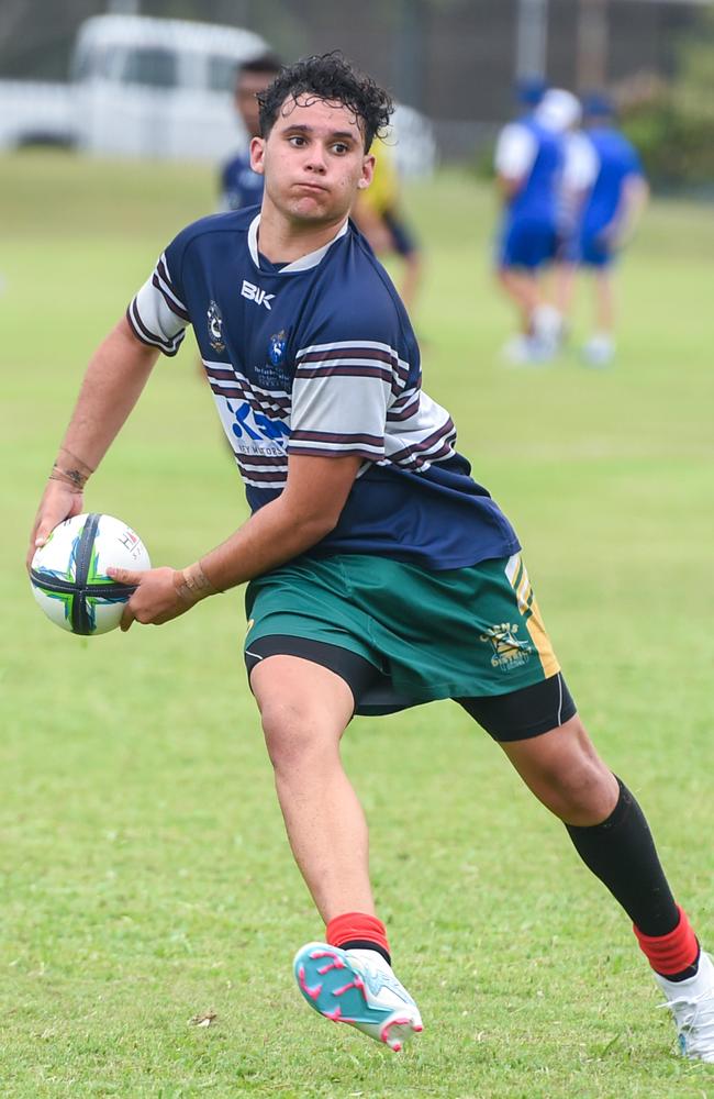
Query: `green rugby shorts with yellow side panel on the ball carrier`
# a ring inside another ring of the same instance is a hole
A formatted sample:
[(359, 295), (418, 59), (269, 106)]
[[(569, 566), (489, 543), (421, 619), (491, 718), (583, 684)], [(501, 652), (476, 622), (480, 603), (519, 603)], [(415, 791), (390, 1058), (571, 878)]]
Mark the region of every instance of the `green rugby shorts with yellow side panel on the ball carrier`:
[(246, 656), (264, 637), (300, 637), (377, 668), (380, 688), (358, 713), (506, 695), (560, 670), (521, 554), (444, 571), (361, 554), (297, 558), (250, 581), (246, 613)]

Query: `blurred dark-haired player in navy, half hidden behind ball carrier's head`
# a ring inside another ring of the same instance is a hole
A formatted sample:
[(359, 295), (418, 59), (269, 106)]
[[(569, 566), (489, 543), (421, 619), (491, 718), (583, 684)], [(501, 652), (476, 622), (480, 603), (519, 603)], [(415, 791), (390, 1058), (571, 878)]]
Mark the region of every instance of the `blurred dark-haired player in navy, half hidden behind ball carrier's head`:
[[(275, 54), (261, 54), (245, 62), (238, 69), (235, 82), (235, 109), (248, 135), (248, 142), (260, 133), (258, 100), (280, 71), (281, 63)], [(259, 206), (263, 200), (263, 176), (250, 165), (249, 145), (221, 168), (221, 206), (224, 210), (241, 210)]]

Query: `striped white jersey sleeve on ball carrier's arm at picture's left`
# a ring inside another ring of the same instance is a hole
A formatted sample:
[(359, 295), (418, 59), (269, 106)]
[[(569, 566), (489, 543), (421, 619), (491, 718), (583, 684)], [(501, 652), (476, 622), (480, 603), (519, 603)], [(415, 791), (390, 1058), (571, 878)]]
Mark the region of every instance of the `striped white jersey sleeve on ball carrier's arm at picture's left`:
[(126, 310), (136, 338), (169, 356), (178, 352), (191, 320), (180, 281), (182, 253), (179, 236), (161, 253), (152, 275)]

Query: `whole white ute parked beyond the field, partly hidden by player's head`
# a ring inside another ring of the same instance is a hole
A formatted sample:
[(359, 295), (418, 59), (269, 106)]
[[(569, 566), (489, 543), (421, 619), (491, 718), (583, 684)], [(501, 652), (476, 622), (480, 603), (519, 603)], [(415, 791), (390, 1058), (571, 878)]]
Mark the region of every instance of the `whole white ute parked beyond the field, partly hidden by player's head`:
[[(219, 163), (247, 142), (233, 107), (236, 70), (269, 48), (235, 26), (96, 15), (77, 33), (69, 84), (0, 80), (0, 148)], [(398, 104), (393, 132), (402, 174), (434, 170), (427, 119)]]

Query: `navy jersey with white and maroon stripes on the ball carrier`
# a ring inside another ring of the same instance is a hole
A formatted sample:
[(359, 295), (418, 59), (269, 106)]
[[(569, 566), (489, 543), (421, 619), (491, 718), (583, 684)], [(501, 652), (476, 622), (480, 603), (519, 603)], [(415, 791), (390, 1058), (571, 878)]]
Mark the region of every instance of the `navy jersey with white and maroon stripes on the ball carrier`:
[(144, 343), (175, 355), (190, 323), (255, 511), (291, 454), (364, 459), (337, 526), (310, 551), (388, 554), (425, 568), (510, 556), (515, 533), (421, 387), (420, 354), (387, 273), (352, 222), (275, 265), (255, 210), (189, 225), (131, 302)]

